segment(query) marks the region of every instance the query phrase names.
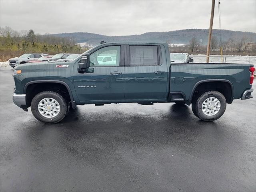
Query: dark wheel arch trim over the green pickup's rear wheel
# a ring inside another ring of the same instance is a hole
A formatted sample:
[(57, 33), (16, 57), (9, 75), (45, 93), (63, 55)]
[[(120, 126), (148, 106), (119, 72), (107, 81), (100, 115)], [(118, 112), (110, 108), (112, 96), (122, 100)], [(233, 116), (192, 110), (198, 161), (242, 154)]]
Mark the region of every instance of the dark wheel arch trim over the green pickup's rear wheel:
[(231, 104), (233, 99), (234, 99), (234, 86), (232, 84), (232, 82), (230, 80), (226, 80), (226, 79), (206, 79), (206, 80), (201, 80), (201, 81), (198, 81), (193, 89), (192, 89), (192, 92), (190, 93), (190, 97), (189, 97), (189, 100), (188, 100), (188, 103), (190, 104), (192, 102), (192, 98), (194, 96), (194, 92), (196, 91), (196, 88), (200, 85), (200, 84), (203, 84), (203, 83), (206, 83), (206, 82), (226, 82), (230, 85), (230, 90), (231, 90), (231, 95), (230, 95), (230, 100), (228, 102), (228, 104)]

